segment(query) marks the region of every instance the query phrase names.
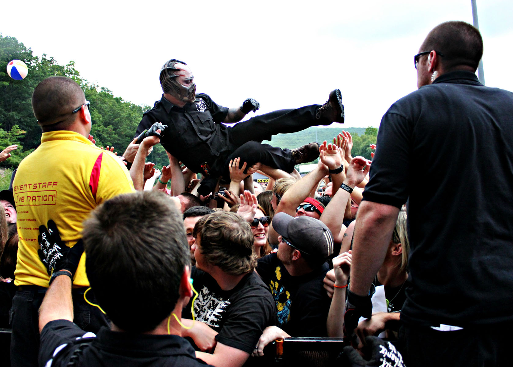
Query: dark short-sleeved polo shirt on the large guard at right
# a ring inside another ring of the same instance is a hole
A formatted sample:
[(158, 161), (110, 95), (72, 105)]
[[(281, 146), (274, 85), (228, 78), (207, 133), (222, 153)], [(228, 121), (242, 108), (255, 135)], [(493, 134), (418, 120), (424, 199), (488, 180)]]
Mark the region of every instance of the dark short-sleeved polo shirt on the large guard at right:
[(409, 200), (403, 321), (513, 321), (513, 93), (456, 71), (399, 99), (363, 199)]

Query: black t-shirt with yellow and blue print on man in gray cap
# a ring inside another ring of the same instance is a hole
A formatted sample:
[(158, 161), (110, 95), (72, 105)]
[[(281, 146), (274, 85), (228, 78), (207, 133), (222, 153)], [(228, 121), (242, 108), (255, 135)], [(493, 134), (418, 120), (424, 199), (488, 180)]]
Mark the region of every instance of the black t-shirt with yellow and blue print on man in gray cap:
[(271, 289), (277, 325), (291, 336), (327, 336), (330, 298), (323, 288), (328, 263), (309, 274), (291, 276), (277, 254), (258, 261), (257, 272)]

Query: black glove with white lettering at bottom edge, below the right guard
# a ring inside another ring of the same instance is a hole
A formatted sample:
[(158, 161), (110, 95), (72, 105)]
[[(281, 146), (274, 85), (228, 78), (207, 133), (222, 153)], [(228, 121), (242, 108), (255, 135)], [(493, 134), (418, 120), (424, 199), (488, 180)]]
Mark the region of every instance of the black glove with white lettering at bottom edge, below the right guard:
[[(344, 358), (347, 360), (347, 365), (351, 367), (361, 366), (394, 366), (406, 367), (403, 362), (403, 356), (399, 353), (395, 346), (389, 341), (384, 341), (377, 336), (367, 336), (365, 338), (367, 350), (370, 359), (367, 361), (352, 348), (352, 346), (344, 346)], [(365, 353), (367, 355), (367, 353)], [(342, 364), (346, 365), (346, 364)]]

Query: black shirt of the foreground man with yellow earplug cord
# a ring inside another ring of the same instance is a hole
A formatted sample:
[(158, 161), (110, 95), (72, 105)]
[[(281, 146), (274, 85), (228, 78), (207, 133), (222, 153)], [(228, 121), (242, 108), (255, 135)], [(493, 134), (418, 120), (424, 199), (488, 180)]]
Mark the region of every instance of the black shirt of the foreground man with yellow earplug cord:
[[(75, 356), (75, 357), (73, 357)], [(68, 364), (74, 361), (75, 364)], [(41, 332), (40, 366), (206, 366), (191, 344), (176, 335), (114, 332), (95, 336), (71, 321), (48, 322)]]

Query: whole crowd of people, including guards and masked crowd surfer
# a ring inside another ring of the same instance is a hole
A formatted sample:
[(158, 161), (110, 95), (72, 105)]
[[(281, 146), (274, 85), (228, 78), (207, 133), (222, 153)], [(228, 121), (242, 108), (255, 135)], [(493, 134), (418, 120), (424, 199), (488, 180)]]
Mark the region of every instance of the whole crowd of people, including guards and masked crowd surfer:
[[(342, 365), (505, 365), (513, 94), (479, 83), (482, 52), (469, 24), (431, 30), (419, 90), (383, 116), (372, 161), (351, 155), (347, 131), (262, 144), (343, 123), (339, 90), (227, 127), (259, 103), (196, 95), (171, 59), (118, 156), (94, 145), (81, 88), (44, 79), (42, 144), (0, 192), (10, 363), (240, 367), (266, 363), (277, 339), (341, 337)], [(146, 161), (156, 144), (160, 170)]]

